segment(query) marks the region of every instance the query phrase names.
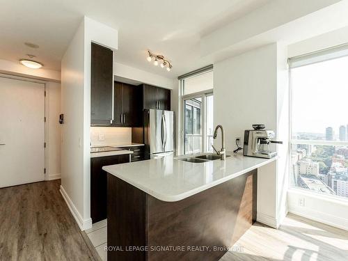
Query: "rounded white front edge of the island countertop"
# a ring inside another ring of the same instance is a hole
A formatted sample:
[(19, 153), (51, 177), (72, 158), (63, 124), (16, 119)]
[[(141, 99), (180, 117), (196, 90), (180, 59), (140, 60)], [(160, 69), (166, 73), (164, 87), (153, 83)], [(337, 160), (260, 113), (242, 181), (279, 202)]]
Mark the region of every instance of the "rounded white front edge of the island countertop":
[(143, 186), (141, 186), (141, 184), (136, 184), (135, 182), (132, 182), (131, 180), (128, 180), (127, 178), (125, 177), (118, 177), (117, 173), (111, 173), (110, 171), (108, 171), (108, 167), (107, 166), (104, 166), (102, 169), (108, 173), (110, 173), (111, 175), (114, 175), (115, 177), (118, 177), (120, 180), (123, 180), (125, 182), (127, 182), (128, 184), (131, 184), (132, 186), (138, 188), (138, 189), (141, 189), (142, 191), (144, 191), (145, 193), (148, 193), (149, 195), (157, 198), (158, 200), (162, 200), (162, 201), (166, 201), (166, 202), (175, 202), (175, 201), (180, 201), (180, 200), (183, 200), (184, 198), (189, 198), (189, 196), (193, 196), (197, 193), (200, 193), (202, 191), (205, 191), (207, 189), (210, 189), (212, 187), (215, 187), (216, 185), (219, 185), (223, 182), (226, 182), (228, 180), (232, 180), (233, 178), (235, 177), (238, 177), (240, 175), (243, 175), (249, 171), (253, 171), (255, 168), (260, 168), (264, 165), (267, 165), (269, 163), (271, 163), (272, 161), (275, 161), (276, 159), (278, 159), (278, 157), (274, 157), (274, 158), (271, 158), (271, 159), (267, 159), (266, 161), (263, 161), (261, 162), (260, 164), (255, 164), (255, 166), (252, 166), (252, 167), (249, 167), (249, 168), (245, 168), (244, 170), (242, 171), (239, 171), (237, 173), (232, 173), (226, 177), (223, 177), (219, 180), (216, 180), (214, 182), (211, 182), (209, 184), (205, 184), (205, 185), (202, 185), (201, 187), (198, 187), (196, 189), (191, 189), (190, 191), (187, 191), (185, 193), (180, 193), (180, 194), (177, 194), (177, 195), (164, 195), (164, 194), (160, 194), (160, 193), (156, 193), (155, 191), (152, 191), (150, 189), (147, 189)]

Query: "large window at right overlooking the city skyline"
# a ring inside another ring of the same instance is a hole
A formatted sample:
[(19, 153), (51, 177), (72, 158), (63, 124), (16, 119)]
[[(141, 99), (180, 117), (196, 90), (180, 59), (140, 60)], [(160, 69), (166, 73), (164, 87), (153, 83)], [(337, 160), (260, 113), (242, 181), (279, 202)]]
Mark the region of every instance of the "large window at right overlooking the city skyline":
[(291, 184), (348, 198), (348, 56), (290, 59)]

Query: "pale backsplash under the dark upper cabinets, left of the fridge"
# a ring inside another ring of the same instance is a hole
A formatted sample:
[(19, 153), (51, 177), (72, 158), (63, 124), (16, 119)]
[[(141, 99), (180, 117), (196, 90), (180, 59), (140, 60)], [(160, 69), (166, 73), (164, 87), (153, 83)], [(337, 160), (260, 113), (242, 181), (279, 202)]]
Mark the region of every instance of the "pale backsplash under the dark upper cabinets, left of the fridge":
[(129, 145), (132, 143), (132, 128), (125, 127), (90, 127), (90, 144)]

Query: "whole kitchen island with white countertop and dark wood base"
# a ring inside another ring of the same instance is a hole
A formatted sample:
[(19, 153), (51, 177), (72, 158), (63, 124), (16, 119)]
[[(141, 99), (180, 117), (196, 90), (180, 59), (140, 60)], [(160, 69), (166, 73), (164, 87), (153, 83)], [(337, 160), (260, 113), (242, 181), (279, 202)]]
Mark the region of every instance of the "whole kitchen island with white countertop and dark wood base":
[(258, 168), (243, 156), (104, 166), (108, 260), (219, 260), (256, 219)]

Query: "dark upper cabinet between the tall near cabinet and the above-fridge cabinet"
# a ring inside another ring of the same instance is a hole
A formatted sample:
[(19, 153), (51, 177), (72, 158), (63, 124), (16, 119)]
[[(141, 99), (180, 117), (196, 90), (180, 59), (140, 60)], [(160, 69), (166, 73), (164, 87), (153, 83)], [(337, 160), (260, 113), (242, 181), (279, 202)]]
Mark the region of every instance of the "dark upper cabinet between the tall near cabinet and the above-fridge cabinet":
[(113, 126), (139, 127), (142, 123), (142, 92), (139, 86), (115, 81)]

